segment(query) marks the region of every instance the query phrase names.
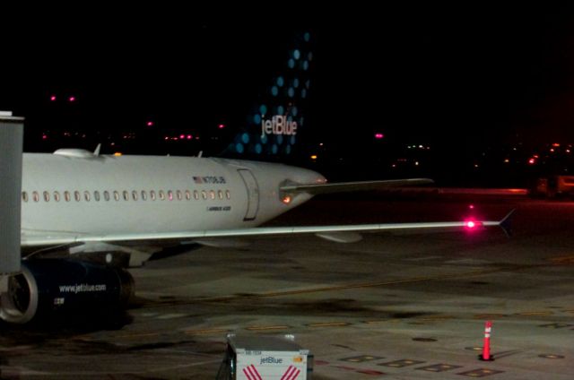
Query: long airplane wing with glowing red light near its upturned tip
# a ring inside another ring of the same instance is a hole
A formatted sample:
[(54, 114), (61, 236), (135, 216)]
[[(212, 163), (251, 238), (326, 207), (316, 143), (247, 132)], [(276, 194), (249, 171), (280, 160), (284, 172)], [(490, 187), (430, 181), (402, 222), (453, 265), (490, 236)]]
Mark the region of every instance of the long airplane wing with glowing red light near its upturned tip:
[(110, 234), (110, 235), (82, 235), (73, 233), (54, 236), (34, 236), (22, 234), (22, 246), (65, 246), (77, 243), (109, 243), (125, 244), (137, 242), (167, 242), (167, 241), (196, 241), (214, 238), (247, 238), (265, 236), (288, 236), (297, 234), (315, 234), (319, 238), (337, 242), (352, 242), (360, 238), (361, 232), (380, 231), (452, 231), (464, 229), (485, 229), (500, 227), (509, 234), (509, 220), (513, 211), (502, 220), (473, 220), (473, 221), (439, 221), (417, 223), (383, 223), (383, 224), (356, 224), (334, 226), (300, 226), (300, 227), (255, 227), (248, 229), (211, 229), (199, 231), (157, 232), (137, 234)]

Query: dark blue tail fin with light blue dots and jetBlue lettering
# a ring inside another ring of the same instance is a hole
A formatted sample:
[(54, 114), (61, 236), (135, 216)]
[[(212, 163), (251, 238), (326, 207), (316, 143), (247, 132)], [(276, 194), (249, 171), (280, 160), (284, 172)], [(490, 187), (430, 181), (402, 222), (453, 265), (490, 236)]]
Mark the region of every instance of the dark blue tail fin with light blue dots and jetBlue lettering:
[(296, 35), (283, 56), (282, 70), (266, 83), (221, 157), (284, 160), (296, 154), (297, 142), (307, 127), (304, 115), (311, 82), (312, 42), (309, 31)]

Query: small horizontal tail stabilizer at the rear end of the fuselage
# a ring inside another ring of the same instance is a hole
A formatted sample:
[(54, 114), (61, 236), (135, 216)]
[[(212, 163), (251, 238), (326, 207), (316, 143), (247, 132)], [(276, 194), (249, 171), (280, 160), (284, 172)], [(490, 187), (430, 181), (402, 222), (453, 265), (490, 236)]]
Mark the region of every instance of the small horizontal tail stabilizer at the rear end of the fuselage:
[(290, 184), (281, 186), (280, 190), (284, 193), (308, 193), (315, 195), (343, 193), (358, 190), (383, 190), (393, 187), (429, 185), (433, 183), (434, 181), (429, 178), (408, 178), (383, 181), (340, 182), (335, 184), (317, 185)]

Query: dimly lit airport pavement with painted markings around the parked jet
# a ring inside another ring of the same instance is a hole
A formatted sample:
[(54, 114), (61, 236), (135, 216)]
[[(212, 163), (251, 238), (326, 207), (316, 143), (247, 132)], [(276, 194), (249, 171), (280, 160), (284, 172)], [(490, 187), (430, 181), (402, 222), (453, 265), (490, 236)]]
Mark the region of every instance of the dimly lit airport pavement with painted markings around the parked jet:
[[(470, 205), (474, 208), (470, 209)], [(570, 379), (574, 203), (484, 194), (317, 197), (272, 224), (500, 219), (513, 236), (266, 238), (134, 269), (116, 329), (0, 329), (0, 378), (213, 379), (225, 334), (292, 333), (314, 379)], [(484, 324), (491, 355), (481, 361)]]

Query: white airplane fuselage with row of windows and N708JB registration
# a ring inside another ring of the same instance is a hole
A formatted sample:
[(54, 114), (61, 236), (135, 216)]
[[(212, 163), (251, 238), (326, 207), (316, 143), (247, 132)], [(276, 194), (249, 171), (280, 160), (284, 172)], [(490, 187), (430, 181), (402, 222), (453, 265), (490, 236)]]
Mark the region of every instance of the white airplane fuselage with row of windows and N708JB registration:
[(22, 234), (117, 234), (254, 227), (309, 200), (283, 202), (308, 169), (244, 160), (24, 153)]

